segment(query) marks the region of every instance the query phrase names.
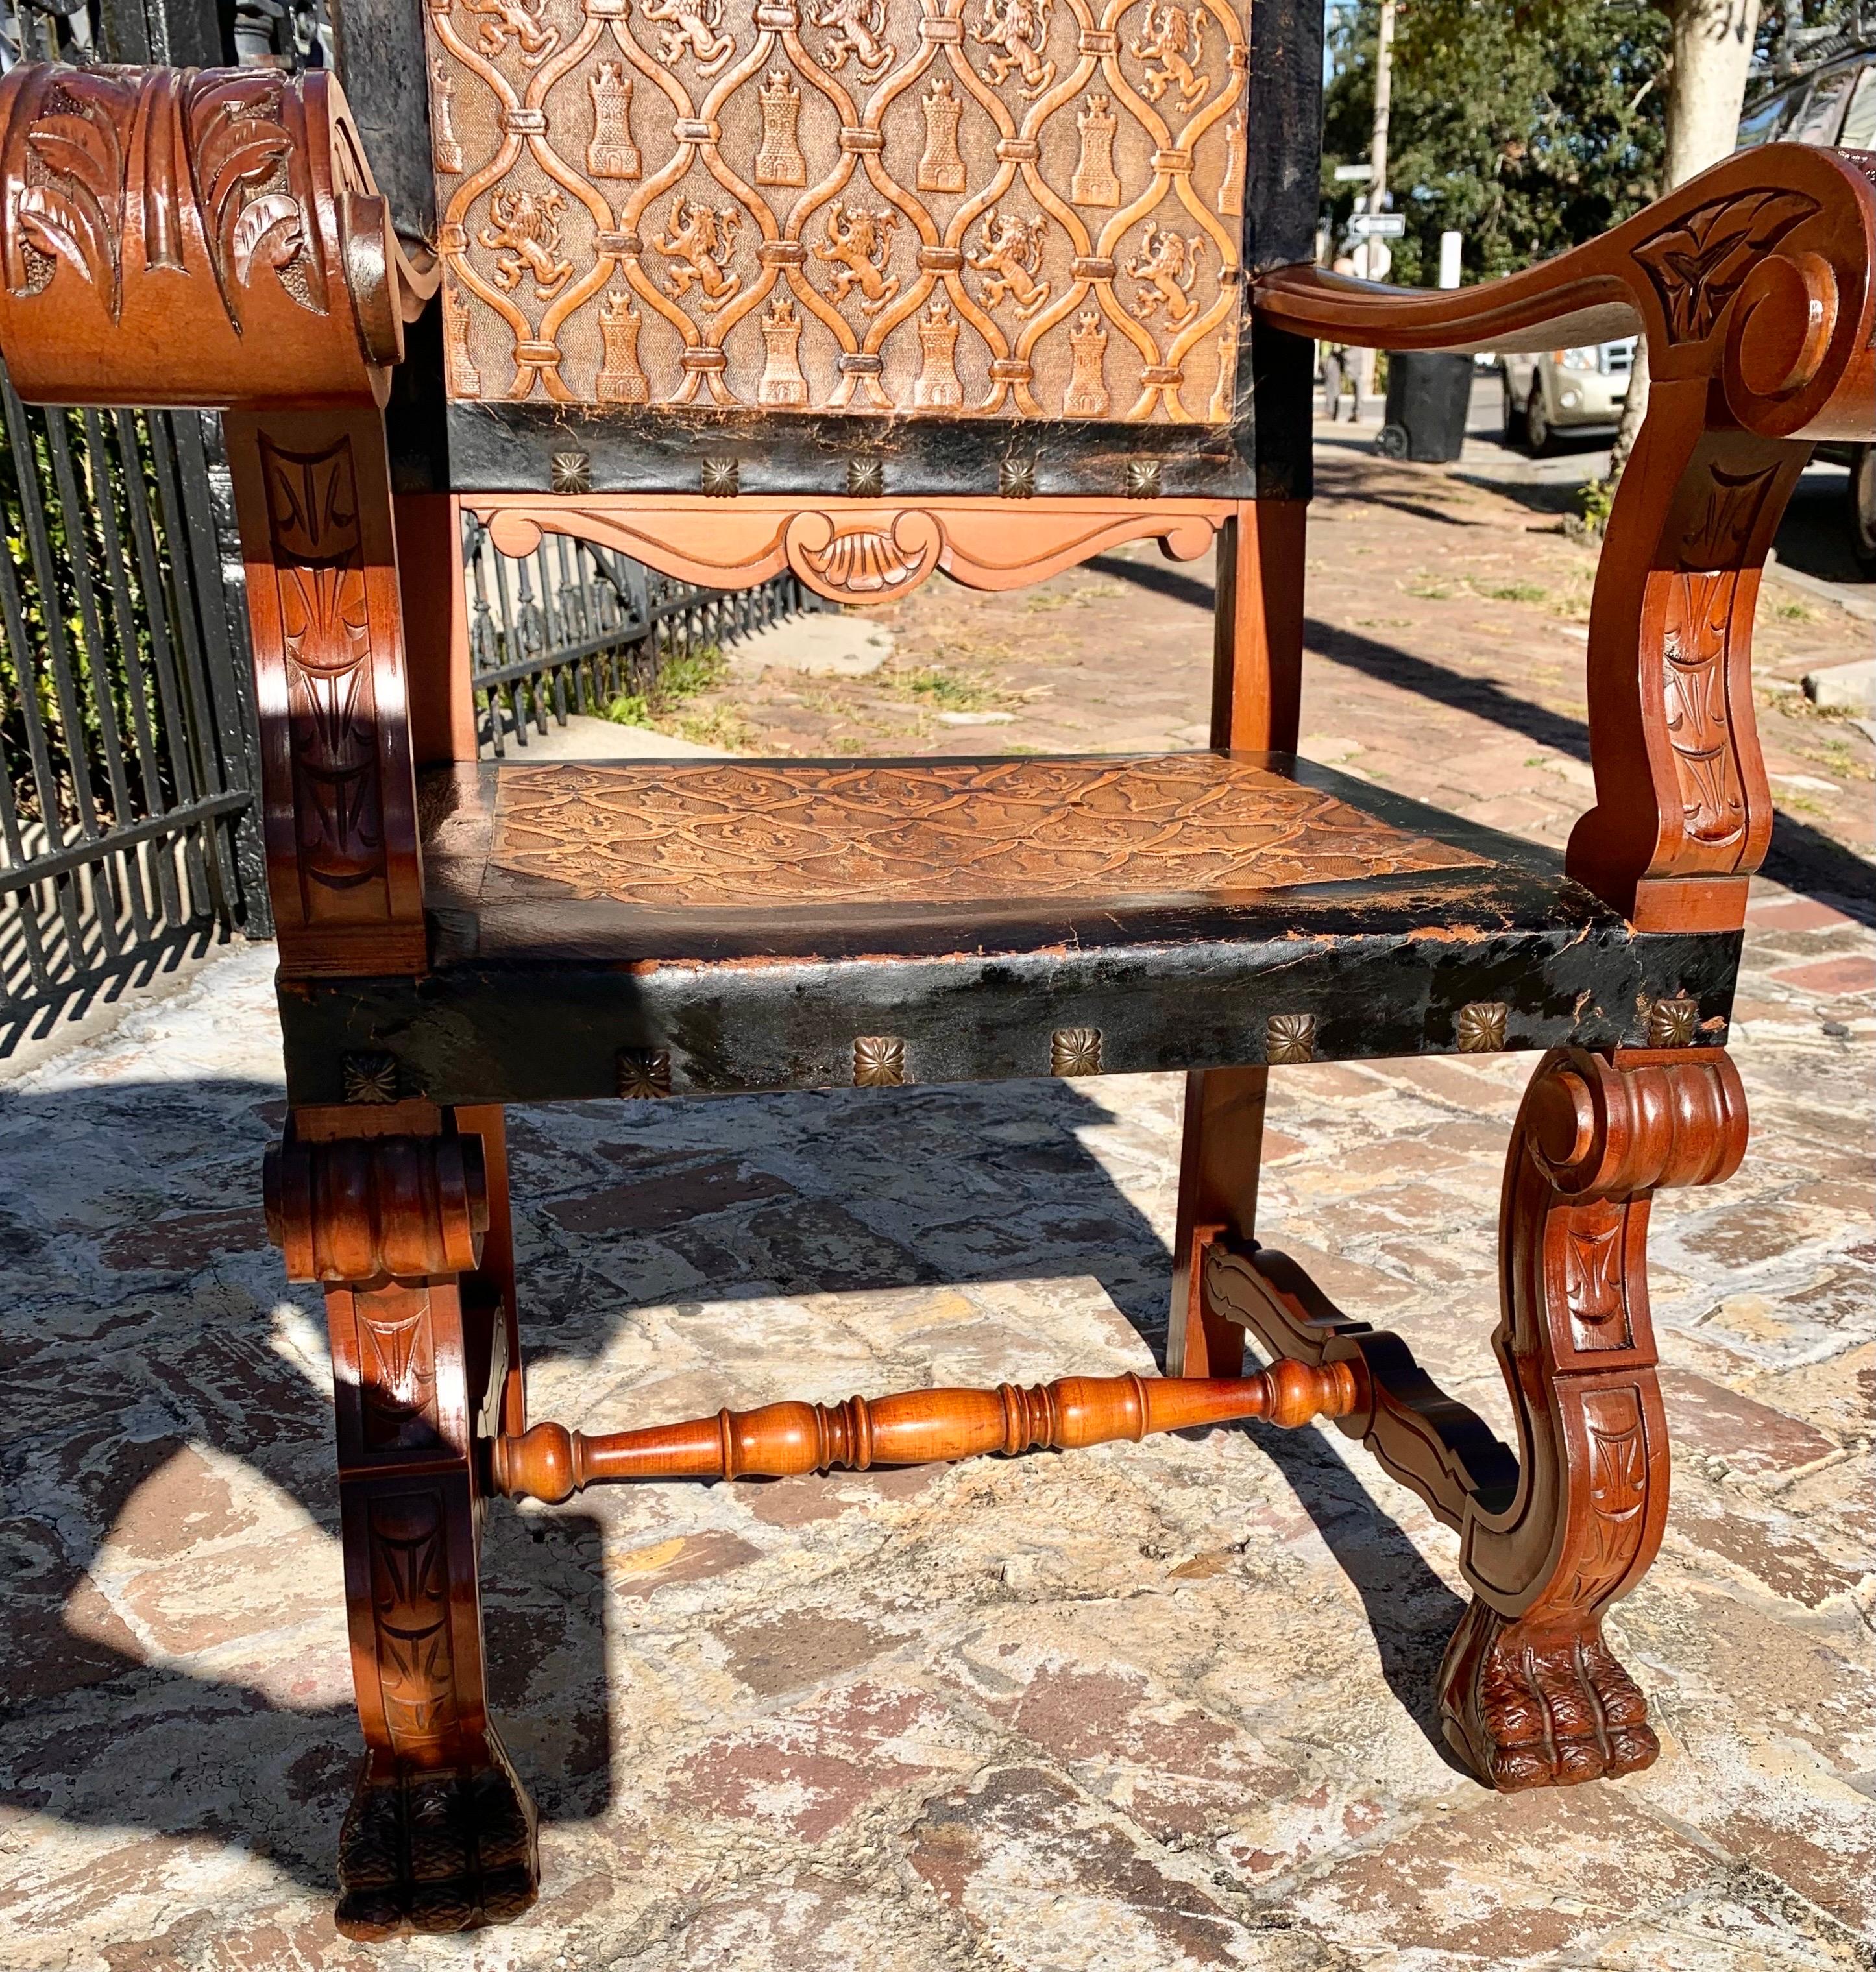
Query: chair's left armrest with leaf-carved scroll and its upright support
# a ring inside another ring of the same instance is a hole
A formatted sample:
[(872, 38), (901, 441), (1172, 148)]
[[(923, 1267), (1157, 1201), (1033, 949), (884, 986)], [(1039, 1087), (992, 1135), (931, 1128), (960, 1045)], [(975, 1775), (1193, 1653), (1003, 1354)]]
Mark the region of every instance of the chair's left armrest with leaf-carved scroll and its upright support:
[(428, 962), (381, 406), (434, 292), (327, 75), (0, 79), (20, 394), (229, 412), (286, 978)]

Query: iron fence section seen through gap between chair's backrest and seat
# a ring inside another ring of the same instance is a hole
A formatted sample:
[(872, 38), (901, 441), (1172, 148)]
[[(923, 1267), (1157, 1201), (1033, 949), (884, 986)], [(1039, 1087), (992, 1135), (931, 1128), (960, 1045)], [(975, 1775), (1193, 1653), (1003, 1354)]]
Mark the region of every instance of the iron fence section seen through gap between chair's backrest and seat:
[(497, 552), (464, 515), (469, 670), (477, 751), (501, 757), (574, 712), (649, 696), (675, 659), (763, 629), (821, 599), (783, 574), (750, 590), (700, 590), (629, 554), (542, 534), (527, 556)]

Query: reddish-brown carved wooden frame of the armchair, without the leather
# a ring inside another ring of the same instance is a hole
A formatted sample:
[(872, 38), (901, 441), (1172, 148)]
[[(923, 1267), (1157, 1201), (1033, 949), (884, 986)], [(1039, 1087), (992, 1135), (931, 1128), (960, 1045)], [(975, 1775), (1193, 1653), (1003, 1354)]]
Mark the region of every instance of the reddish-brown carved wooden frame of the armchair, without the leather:
[[(933, 568), (1008, 588), (1117, 540), (1191, 556), (1217, 536), (1213, 743), (1294, 745), (1298, 501), (398, 499), (379, 406), (434, 274), (393, 239), (333, 87), (28, 65), (0, 79), (0, 339), (22, 394), (231, 410), (286, 982), (430, 964), (414, 767), (471, 751), (464, 505), (503, 546), (556, 528), (726, 586), (791, 566), (846, 601), (903, 594)], [(1407, 296), (1310, 268), (1257, 284), (1261, 325), (1341, 341), (1647, 335), (1655, 396), (1590, 627), (1596, 807), (1568, 858), (1637, 927), (1742, 921), (1769, 832), (1750, 710), (1758, 576), (1811, 442), (1870, 428), (1872, 239), (1876, 158), (1777, 146), (1485, 288)], [(535, 1812), (485, 1704), (481, 1514), (499, 1489), (556, 1495), (659, 1457), (795, 1471), (882, 1445), (951, 1457), (1328, 1414), (1460, 1530), (1474, 1603), (1442, 1710), (1479, 1779), (1647, 1765), (1645, 1704), (1602, 1639), (1667, 1511), (1647, 1209), (1659, 1185), (1724, 1179), (1746, 1144), (1726, 1053), (1691, 1004), (1657, 1014), (1659, 1047), (1545, 1057), (1513, 1126), (1495, 1349), (1515, 1453), (1397, 1337), (1257, 1244), (1264, 1067), (1188, 1089), (1168, 1371), (1191, 1380), (775, 1406), (588, 1442), (527, 1426), (499, 1108), (410, 1100), (371, 1057), (347, 1069), (351, 1100), (300, 1106), (266, 1173), (288, 1274), (325, 1292), (339, 1388), (367, 1739), (341, 1929), (462, 1929), (533, 1901)], [(1245, 1329), (1278, 1361), (1235, 1380)]]

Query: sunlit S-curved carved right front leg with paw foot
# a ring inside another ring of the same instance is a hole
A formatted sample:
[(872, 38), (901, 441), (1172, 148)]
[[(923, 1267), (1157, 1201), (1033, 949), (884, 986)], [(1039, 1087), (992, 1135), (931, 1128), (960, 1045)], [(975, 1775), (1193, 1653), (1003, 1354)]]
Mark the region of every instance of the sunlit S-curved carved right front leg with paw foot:
[(1657, 1185), (1728, 1177), (1746, 1098), (1720, 1049), (1560, 1051), (1519, 1110), (1499, 1213), (1493, 1349), (1519, 1434), (1507, 1505), (1472, 1493), (1476, 1601), (1440, 1676), (1446, 1737), (1513, 1791), (1647, 1767), (1659, 1743), (1602, 1615), (1647, 1572), (1667, 1520), (1667, 1418), (1647, 1309)]

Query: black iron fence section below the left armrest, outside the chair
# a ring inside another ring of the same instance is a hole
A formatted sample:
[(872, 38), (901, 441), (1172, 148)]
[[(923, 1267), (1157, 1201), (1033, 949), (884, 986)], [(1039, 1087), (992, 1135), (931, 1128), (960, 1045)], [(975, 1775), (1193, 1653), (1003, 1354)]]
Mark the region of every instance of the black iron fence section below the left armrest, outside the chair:
[(264, 931), (266, 891), (217, 424), (28, 410), (4, 379), (0, 400), (0, 1021), (18, 1021), (203, 935)]

